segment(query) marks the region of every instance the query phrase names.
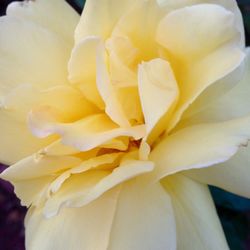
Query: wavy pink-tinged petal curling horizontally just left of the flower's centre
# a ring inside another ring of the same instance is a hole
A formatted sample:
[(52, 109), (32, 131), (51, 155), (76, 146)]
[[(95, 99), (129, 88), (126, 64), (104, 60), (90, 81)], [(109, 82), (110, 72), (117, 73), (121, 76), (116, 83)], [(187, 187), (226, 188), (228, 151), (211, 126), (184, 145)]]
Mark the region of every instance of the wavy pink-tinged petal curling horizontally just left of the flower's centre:
[(145, 136), (144, 125), (119, 128), (105, 114), (92, 115), (74, 123), (60, 123), (47, 112), (35, 111), (30, 114), (29, 120), (30, 128), (36, 136), (43, 138), (50, 134), (59, 134), (63, 144), (81, 151), (93, 149), (120, 136), (129, 136), (136, 140)]

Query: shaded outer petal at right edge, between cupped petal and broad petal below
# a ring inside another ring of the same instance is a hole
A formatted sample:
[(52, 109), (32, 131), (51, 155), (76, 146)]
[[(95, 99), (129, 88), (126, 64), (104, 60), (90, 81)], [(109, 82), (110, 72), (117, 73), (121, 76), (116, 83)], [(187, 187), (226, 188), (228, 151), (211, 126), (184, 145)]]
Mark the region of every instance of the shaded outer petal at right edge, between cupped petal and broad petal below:
[[(248, 49), (243, 79), (220, 98), (210, 98), (209, 103), (204, 103), (206, 99), (204, 100), (202, 97), (197, 99), (184, 114), (180, 126), (184, 127), (201, 122), (223, 121), (247, 115), (250, 112), (249, 81), (250, 50)], [(213, 91), (210, 97), (216, 96), (216, 94), (217, 93)]]

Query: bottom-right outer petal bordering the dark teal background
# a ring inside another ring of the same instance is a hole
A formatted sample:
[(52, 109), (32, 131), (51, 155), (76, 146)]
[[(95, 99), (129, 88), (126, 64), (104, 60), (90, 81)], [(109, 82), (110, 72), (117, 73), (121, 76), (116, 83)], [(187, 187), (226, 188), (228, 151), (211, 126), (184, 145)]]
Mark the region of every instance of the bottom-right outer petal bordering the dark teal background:
[(207, 186), (181, 175), (163, 185), (173, 203), (178, 250), (229, 249)]

